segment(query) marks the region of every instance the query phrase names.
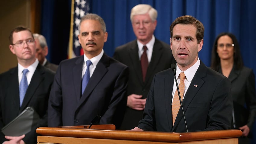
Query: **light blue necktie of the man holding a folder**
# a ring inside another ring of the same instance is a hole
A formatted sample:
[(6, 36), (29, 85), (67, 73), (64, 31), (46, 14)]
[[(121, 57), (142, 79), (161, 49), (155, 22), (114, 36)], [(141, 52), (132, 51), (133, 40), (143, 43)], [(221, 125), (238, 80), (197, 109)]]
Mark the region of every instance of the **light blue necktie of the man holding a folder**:
[(22, 71), (23, 75), (22, 75), (21, 83), (20, 83), (20, 87), (19, 87), (19, 90), (20, 90), (20, 107), (21, 107), (21, 104), (23, 102), (23, 99), (24, 99), (24, 96), (26, 94), (27, 87), (28, 87), (27, 76), (26, 76), (27, 72), (28, 72), (28, 69), (24, 69)]

